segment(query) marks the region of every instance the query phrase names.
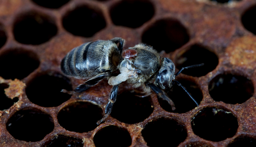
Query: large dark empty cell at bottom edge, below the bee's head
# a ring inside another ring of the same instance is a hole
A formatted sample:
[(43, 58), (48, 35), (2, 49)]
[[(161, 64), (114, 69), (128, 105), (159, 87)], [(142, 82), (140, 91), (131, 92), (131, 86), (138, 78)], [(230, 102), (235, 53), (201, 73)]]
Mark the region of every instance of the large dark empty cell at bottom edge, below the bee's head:
[(161, 118), (148, 123), (142, 136), (149, 147), (177, 147), (187, 138), (187, 130), (174, 120)]

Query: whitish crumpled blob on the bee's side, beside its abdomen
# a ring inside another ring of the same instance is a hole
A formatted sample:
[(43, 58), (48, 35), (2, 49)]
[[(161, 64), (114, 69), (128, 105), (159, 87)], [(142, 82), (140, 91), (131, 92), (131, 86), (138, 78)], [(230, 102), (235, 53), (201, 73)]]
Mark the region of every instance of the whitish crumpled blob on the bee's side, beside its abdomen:
[(128, 78), (133, 77), (133, 76), (134, 76), (134, 71), (129, 71), (128, 68), (122, 67), (120, 69), (120, 74), (109, 78), (108, 84), (109, 85), (117, 85), (117, 84), (120, 84), (120, 83), (126, 81)]

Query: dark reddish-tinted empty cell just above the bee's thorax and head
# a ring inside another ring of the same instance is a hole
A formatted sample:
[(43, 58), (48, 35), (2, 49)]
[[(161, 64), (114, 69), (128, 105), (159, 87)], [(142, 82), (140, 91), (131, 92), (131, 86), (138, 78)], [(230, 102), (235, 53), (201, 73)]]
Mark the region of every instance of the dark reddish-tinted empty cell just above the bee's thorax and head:
[(189, 41), (186, 28), (177, 20), (160, 20), (146, 30), (142, 35), (142, 42), (151, 45), (160, 52), (166, 53), (180, 48)]

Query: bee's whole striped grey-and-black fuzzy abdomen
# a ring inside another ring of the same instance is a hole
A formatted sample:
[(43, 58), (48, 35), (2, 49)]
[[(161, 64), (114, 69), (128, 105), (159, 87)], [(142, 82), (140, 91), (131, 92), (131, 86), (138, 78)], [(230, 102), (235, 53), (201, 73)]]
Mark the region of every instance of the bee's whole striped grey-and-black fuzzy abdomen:
[(90, 78), (109, 72), (116, 69), (111, 62), (113, 52), (118, 52), (118, 48), (112, 41), (99, 40), (82, 44), (63, 58), (62, 72), (77, 78)]

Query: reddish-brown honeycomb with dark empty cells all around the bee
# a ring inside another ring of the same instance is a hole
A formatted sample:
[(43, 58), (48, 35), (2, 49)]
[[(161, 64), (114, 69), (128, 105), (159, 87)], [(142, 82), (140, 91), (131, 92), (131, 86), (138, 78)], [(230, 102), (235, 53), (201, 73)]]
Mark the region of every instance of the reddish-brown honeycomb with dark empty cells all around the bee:
[[(256, 147), (255, 0), (0, 0), (0, 147)], [(143, 42), (185, 70), (168, 96), (123, 82), (81, 94), (65, 54), (89, 41)]]

